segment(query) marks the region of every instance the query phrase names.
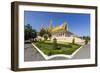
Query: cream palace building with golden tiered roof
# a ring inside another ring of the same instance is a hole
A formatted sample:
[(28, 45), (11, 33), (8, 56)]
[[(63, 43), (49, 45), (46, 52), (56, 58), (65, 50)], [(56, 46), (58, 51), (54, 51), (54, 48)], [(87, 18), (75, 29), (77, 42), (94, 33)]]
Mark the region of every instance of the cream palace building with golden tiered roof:
[(74, 33), (70, 32), (68, 30), (68, 24), (66, 22), (57, 25), (57, 26), (52, 26), (52, 23), (48, 27), (48, 31), (51, 33), (51, 40), (54, 38), (57, 39), (57, 41), (62, 41), (62, 42), (72, 42), (73, 39), (75, 39), (76, 43), (84, 43), (84, 40)]

